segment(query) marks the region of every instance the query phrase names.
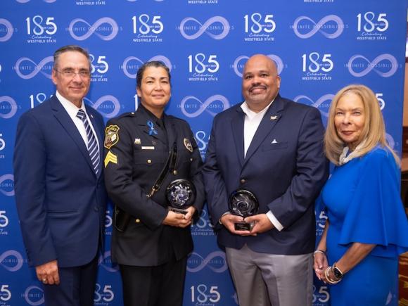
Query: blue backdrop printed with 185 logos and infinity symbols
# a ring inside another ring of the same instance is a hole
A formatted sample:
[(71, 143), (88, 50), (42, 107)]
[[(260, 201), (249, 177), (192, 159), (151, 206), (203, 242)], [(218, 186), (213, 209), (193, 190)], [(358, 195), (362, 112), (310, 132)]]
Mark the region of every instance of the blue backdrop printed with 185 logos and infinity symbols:
[[(203, 156), (213, 117), (242, 101), (243, 65), (254, 53), (276, 61), (281, 95), (318, 108), (325, 124), (338, 89), (371, 87), (388, 141), (401, 151), (406, 23), (406, 0), (2, 0), (0, 305), (44, 303), (20, 234), (12, 159), (18, 118), (54, 94), (52, 55), (60, 46), (79, 44), (91, 53), (86, 102), (106, 120), (137, 108), (142, 63), (166, 63), (172, 73), (167, 113), (190, 123)], [(120, 274), (110, 261), (111, 215), (109, 206), (95, 305), (122, 305)], [(316, 215), (319, 236), (326, 215), (319, 208)], [(206, 211), (191, 231), (184, 305), (237, 305)], [(388, 304), (396, 300), (390, 293)], [(316, 282), (314, 305), (329, 301), (329, 288)]]

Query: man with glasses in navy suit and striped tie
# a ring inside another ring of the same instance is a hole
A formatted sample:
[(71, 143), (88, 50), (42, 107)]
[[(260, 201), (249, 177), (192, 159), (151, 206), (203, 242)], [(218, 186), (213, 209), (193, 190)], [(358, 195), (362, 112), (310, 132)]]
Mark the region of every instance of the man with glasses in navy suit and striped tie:
[(94, 304), (107, 198), (103, 118), (83, 101), (90, 69), (81, 47), (58, 49), (56, 94), (24, 113), (17, 127), (15, 202), (46, 305)]

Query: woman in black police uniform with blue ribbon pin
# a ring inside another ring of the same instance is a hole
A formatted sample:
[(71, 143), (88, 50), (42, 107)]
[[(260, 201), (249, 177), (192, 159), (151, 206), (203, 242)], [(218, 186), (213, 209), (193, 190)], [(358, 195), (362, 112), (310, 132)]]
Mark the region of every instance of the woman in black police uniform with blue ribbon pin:
[[(125, 305), (181, 305), (187, 255), (193, 250), (189, 226), (205, 200), (202, 160), (189, 124), (164, 113), (171, 96), (169, 69), (158, 61), (145, 63), (136, 90), (137, 111), (106, 127), (106, 189), (121, 223), (113, 229), (112, 259), (120, 265)], [(175, 165), (166, 170), (174, 148)], [(158, 191), (146, 196), (160, 179)], [(196, 189), (186, 214), (167, 208), (166, 187), (175, 179), (187, 179)]]

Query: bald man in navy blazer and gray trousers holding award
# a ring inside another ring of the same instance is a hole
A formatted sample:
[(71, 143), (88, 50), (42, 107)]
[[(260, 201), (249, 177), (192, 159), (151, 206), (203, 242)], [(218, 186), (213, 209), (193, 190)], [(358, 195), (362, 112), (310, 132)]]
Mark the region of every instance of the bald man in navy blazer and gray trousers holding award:
[[(241, 306), (312, 305), (314, 199), (328, 176), (319, 110), (279, 96), (275, 63), (251, 57), (245, 101), (215, 117), (203, 169), (208, 208)], [(238, 189), (259, 201), (243, 217), (229, 212)]]

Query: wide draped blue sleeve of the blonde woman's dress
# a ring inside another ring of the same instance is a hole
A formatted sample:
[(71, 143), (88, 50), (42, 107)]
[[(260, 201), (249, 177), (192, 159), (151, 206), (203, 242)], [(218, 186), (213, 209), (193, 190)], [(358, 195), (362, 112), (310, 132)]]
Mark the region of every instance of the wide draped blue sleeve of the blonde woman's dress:
[(408, 221), (393, 155), (376, 148), (364, 155), (361, 176), (345, 215), (340, 244), (376, 244), (372, 255), (396, 257), (408, 250)]

